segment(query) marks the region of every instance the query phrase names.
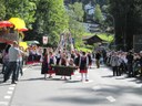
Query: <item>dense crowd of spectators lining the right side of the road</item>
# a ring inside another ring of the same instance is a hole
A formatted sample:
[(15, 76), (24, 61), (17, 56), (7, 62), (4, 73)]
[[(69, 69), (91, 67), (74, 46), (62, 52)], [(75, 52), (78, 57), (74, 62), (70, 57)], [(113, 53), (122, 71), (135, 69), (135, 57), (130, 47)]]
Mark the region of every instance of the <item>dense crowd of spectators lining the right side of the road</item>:
[(128, 77), (142, 76), (142, 51), (140, 53), (110, 51), (106, 53), (105, 63), (112, 66), (113, 76), (122, 74), (128, 74)]

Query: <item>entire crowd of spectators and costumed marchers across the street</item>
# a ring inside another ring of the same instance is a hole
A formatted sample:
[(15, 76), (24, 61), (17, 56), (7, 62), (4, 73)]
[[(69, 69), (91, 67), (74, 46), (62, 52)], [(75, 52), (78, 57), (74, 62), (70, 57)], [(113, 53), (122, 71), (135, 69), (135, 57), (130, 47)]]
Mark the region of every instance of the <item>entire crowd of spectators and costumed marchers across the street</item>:
[[(136, 75), (142, 76), (142, 51), (133, 53), (132, 51), (105, 51), (98, 50), (92, 53), (82, 51), (53, 50), (52, 47), (40, 47), (37, 45), (29, 46), (23, 50), (18, 42), (7, 45), (2, 53), (2, 74), (3, 82), (7, 82), (12, 75), (12, 84), (19, 80), (19, 74), (23, 75), (23, 64), (41, 63), (41, 74), (44, 80), (52, 78), (55, 70), (52, 65), (73, 66), (81, 74), (81, 81), (89, 81), (88, 70), (92, 64), (100, 68), (100, 64), (112, 67), (113, 76), (128, 74), (129, 77)], [(72, 72), (71, 75), (74, 75)], [(72, 77), (69, 77), (71, 80)], [(68, 80), (62, 75), (61, 78)]]

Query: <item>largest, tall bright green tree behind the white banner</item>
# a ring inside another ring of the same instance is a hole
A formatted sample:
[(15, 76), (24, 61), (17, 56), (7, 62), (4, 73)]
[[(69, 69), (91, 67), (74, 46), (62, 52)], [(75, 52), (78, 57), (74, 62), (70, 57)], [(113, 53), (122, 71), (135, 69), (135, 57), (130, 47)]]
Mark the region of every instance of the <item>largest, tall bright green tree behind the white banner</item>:
[(40, 40), (40, 42), (43, 35), (48, 35), (49, 43), (57, 46), (60, 33), (68, 29), (68, 17), (63, 0), (37, 1), (36, 18), (33, 30), (29, 34), (34, 35), (34, 39)]

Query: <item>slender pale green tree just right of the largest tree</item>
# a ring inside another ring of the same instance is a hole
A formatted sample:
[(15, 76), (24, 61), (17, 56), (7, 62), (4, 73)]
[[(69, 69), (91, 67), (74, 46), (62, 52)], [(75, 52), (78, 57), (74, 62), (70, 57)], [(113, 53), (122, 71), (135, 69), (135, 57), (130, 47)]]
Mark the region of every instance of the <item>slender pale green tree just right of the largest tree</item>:
[(74, 38), (75, 46), (83, 44), (82, 34), (84, 33), (84, 28), (82, 24), (84, 11), (82, 9), (82, 3), (75, 2), (69, 6), (69, 30)]

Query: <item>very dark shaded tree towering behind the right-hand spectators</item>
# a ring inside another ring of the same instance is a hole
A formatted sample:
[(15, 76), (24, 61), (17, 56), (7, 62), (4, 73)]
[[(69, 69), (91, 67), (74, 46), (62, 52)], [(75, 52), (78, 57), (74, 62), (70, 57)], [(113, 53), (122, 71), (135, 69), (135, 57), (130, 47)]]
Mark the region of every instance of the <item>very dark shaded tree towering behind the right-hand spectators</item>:
[(142, 33), (142, 1), (110, 0), (110, 13), (115, 21), (115, 43), (125, 51), (133, 47), (133, 35)]

